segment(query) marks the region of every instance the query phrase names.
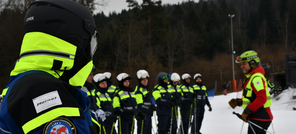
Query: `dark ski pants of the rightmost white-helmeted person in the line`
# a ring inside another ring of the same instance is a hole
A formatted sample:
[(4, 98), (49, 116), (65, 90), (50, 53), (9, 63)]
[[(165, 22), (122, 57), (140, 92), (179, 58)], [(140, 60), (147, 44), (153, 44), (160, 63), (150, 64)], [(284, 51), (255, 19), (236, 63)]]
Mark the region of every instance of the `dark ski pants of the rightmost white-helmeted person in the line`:
[[(193, 110), (194, 111), (194, 110)], [(196, 128), (196, 132), (200, 132), (200, 128), (202, 126), (203, 115), (205, 113), (205, 106), (197, 106), (196, 107), (196, 118), (194, 117), (194, 113), (192, 113), (193, 121), (191, 125), (191, 133), (194, 133), (194, 129)], [(194, 121), (196, 119), (196, 121)], [(196, 124), (195, 124), (196, 122)]]

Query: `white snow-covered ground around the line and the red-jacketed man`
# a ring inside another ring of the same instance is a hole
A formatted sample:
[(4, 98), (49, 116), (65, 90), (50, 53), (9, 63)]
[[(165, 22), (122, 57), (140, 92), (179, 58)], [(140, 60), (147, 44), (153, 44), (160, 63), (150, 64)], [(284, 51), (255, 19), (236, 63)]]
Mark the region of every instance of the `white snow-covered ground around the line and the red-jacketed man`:
[[(296, 89), (284, 90), (278, 97), (272, 99), (271, 112), (274, 116), (272, 125), (269, 126), (268, 132), (275, 134), (296, 134), (296, 110), (293, 111), (293, 107), (296, 107), (296, 99), (292, 99), (292, 95), (296, 94)], [(208, 111), (208, 107), (205, 106), (205, 115), (202, 121), (202, 127), (200, 132), (202, 134), (239, 134), (243, 125), (243, 121), (240, 120), (232, 112), (241, 114), (243, 112), (242, 107), (236, 107), (232, 109), (228, 102), (232, 98), (241, 97), (241, 92), (233, 92), (227, 95), (218, 95), (210, 99), (212, 106), (212, 112)], [(135, 120), (136, 124), (136, 120)], [(156, 133), (155, 118), (152, 117), (152, 127)], [(134, 134), (136, 134), (135, 131)], [(116, 123), (117, 129), (117, 123)], [(242, 134), (247, 134), (248, 123), (244, 123)], [(153, 134), (153, 131), (152, 131)]]

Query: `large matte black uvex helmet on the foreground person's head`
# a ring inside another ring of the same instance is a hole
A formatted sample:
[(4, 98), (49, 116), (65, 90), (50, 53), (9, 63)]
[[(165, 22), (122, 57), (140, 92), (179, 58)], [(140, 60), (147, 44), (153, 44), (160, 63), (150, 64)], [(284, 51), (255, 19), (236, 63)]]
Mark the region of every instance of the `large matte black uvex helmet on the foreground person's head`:
[(24, 31), (43, 32), (65, 40), (85, 51), (89, 61), (99, 39), (91, 12), (72, 0), (38, 0), (31, 3), (25, 16)]

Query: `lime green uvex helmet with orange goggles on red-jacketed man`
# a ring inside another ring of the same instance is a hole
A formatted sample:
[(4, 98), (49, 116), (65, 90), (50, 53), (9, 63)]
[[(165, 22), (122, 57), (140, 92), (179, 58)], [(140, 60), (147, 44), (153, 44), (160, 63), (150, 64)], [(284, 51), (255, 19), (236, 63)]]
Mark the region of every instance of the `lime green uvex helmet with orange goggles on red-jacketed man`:
[(237, 56), (237, 59), (235, 60), (235, 63), (239, 64), (242, 62), (247, 61), (250, 64), (250, 67), (255, 67), (257, 63), (259, 62), (259, 56), (258, 54), (251, 50), (242, 53), (240, 56)]

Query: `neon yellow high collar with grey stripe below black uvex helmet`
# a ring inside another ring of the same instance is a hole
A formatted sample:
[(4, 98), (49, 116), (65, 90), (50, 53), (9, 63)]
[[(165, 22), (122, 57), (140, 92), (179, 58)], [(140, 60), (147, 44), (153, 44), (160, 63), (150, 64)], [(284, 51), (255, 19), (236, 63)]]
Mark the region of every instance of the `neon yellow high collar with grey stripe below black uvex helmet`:
[[(93, 63), (81, 57), (80, 52), (80, 48), (57, 37), (42, 32), (29, 32), (25, 34), (20, 60), (10, 76), (30, 70), (41, 70), (56, 78), (67, 75), (63, 81), (81, 88), (91, 72)], [(78, 69), (67, 74), (71, 68)]]

